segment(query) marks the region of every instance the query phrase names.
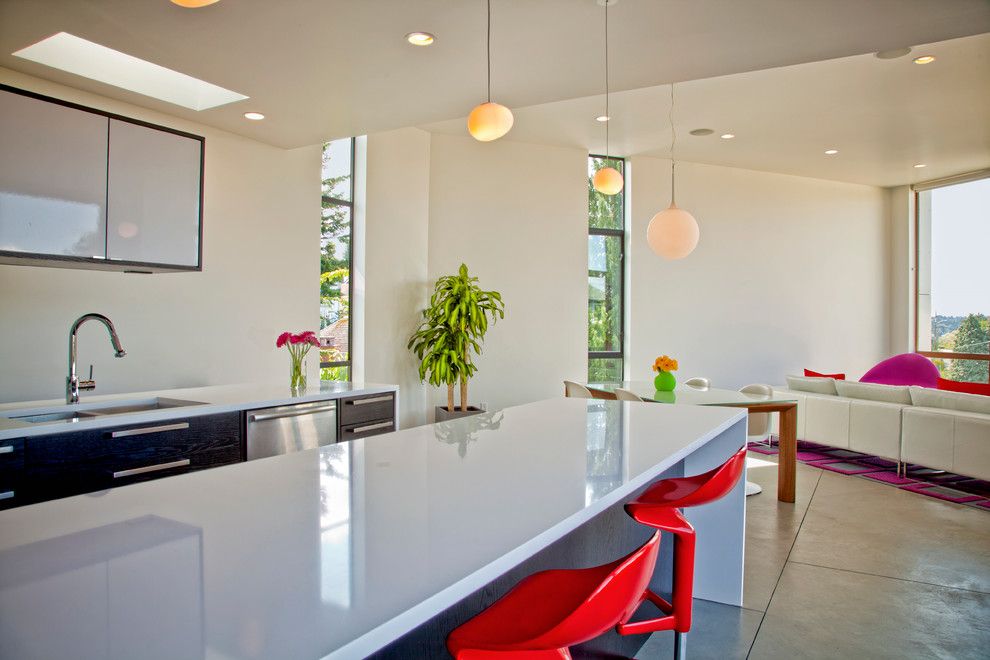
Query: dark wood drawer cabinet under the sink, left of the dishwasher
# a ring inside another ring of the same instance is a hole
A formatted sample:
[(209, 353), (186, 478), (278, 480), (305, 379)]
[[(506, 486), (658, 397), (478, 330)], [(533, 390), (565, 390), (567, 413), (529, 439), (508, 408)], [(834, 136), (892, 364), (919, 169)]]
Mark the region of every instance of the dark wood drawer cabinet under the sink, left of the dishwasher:
[(16, 505), (242, 460), (236, 412), (58, 433), (23, 442), (23, 480)]

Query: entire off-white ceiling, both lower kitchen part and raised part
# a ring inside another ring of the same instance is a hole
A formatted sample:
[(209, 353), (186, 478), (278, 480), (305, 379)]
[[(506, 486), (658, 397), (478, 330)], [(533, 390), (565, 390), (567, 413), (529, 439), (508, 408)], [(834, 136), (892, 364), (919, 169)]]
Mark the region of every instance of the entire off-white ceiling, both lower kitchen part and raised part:
[[(0, 0), (0, 66), (286, 148), (413, 125), (463, 131), (459, 118), (485, 94), (484, 7)], [(600, 124), (586, 121), (600, 113), (604, 76), (596, 0), (493, 0), (492, 12), (493, 96), (517, 109), (511, 139), (601, 150)], [(978, 60), (946, 54), (928, 67), (822, 61), (990, 32), (988, 0), (618, 0), (609, 21), (612, 89), (634, 90), (615, 96), (619, 153), (665, 154), (654, 114), (665, 115), (667, 88), (656, 86), (696, 81), (681, 88), (678, 126), (739, 137), (682, 139), (692, 160), (884, 185), (907, 180), (894, 171), (919, 159), (934, 161), (922, 178), (985, 166), (985, 41), (971, 46)], [(433, 32), (436, 44), (410, 46), (403, 35), (413, 30)], [(60, 31), (251, 98), (196, 112), (10, 55)], [(743, 72), (758, 73), (732, 75)], [(267, 119), (247, 121), (247, 110)], [(806, 155), (837, 140), (841, 159), (816, 165)]]

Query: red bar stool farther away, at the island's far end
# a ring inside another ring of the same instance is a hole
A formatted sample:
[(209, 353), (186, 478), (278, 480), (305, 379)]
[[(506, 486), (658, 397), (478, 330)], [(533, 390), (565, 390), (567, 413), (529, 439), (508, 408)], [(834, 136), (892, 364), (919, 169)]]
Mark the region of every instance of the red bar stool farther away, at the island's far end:
[(674, 589), (668, 602), (648, 588), (640, 602), (648, 600), (664, 616), (636, 622), (620, 622), (621, 635), (638, 635), (660, 630), (674, 631), (674, 656), (686, 654), (686, 635), (691, 630), (691, 602), (694, 597), (694, 527), (684, 518), (681, 507), (699, 506), (724, 497), (739, 482), (746, 467), (746, 447), (715, 468), (693, 477), (658, 481), (633, 502), (626, 512), (644, 525), (674, 535)]

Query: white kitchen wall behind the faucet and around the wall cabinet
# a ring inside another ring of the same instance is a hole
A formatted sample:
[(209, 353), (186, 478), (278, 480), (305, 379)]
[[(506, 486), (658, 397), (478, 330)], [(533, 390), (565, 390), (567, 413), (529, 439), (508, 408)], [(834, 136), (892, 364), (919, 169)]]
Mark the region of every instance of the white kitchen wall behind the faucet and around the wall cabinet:
[[(201, 273), (125, 275), (0, 266), (0, 401), (60, 398), (69, 326), (86, 312), (116, 324), (114, 359), (98, 324), (80, 331), (95, 393), (288, 380), (285, 329), (319, 323), (320, 147), (286, 151), (137, 106), (0, 69), (0, 80), (206, 137)], [(308, 361), (318, 379), (318, 361)], [(83, 393), (86, 396), (86, 393)]]

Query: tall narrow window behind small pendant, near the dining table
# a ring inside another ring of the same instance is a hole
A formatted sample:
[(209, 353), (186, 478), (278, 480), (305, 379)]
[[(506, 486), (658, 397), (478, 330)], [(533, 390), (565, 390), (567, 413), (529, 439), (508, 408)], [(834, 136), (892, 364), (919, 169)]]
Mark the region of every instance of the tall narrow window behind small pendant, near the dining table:
[(588, 382), (622, 380), (623, 246), (625, 190), (603, 195), (592, 178), (614, 167), (625, 178), (625, 161), (588, 157)]

